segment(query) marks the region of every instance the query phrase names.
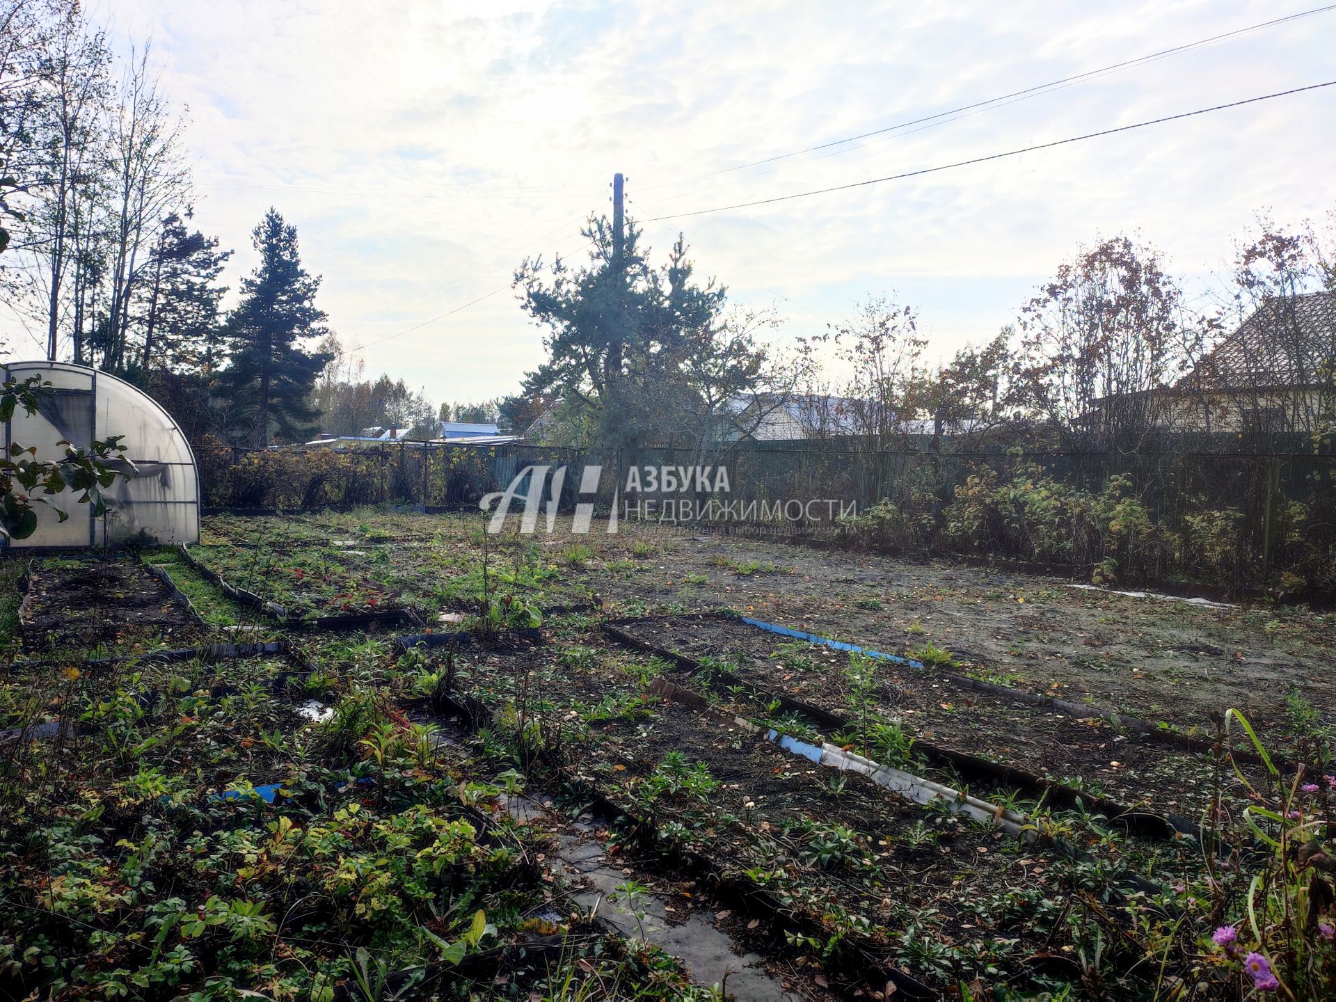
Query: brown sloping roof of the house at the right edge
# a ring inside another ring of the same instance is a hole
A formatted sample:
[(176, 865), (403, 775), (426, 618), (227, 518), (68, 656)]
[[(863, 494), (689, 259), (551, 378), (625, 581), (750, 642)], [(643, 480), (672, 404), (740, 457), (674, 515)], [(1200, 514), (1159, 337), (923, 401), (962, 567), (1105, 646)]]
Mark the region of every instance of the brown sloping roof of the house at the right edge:
[(1178, 381), (1180, 389), (1315, 386), (1336, 358), (1336, 293), (1276, 297)]

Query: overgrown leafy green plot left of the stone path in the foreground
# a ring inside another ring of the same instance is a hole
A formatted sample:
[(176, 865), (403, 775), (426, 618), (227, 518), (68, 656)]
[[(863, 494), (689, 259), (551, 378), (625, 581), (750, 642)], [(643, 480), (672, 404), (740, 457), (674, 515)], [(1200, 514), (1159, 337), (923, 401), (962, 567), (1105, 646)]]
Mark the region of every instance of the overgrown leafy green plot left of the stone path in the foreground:
[(565, 904), (498, 768), (355, 692), (311, 723), (305, 685), (282, 657), (7, 683), (79, 725), (0, 744), (0, 997), (704, 997)]

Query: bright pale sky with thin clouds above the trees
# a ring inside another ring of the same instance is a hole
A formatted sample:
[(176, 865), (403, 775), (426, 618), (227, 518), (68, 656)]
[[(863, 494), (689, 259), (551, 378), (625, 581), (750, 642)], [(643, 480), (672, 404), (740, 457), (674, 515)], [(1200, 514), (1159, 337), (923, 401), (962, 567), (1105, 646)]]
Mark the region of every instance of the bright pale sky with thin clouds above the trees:
[[(627, 176), (633, 219), (846, 184), (1336, 79), (1336, 11), (929, 128), (737, 168), (1317, 7), (1150, 3), (605, 4), (493, 0), (92, 5), (152, 39), (188, 108), (196, 215), (234, 247), (274, 206), (370, 375), (433, 401), (517, 389), (542, 331), (509, 287), (572, 258)], [(906, 180), (645, 222), (680, 230), (780, 345), (870, 295), (945, 358), (1010, 322), (1079, 244), (1137, 232), (1209, 293), (1259, 211), (1336, 208), (1336, 87)], [(485, 298), (484, 298), (485, 297)], [(478, 301), (478, 302), (474, 302)]]

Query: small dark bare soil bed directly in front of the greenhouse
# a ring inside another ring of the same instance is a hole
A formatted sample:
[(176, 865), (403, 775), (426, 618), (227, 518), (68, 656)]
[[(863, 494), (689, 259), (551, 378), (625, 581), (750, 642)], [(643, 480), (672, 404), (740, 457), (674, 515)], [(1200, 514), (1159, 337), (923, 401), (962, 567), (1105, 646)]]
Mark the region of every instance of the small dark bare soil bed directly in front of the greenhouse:
[(37, 561), (23, 613), (31, 653), (134, 653), (200, 643), (203, 631), (134, 554)]

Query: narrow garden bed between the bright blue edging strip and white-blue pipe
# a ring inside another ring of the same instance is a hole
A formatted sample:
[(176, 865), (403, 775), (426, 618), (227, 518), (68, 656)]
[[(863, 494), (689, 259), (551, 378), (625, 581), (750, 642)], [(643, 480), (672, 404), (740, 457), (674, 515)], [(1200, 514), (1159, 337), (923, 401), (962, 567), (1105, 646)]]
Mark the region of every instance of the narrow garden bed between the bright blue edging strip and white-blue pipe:
[[(721, 616), (652, 617), (620, 623), (632, 639), (727, 672), (763, 693), (800, 700), (836, 717), (844, 736), (878, 758), (887, 747), (918, 758), (907, 739), (966, 752), (1126, 807), (1197, 820), (1217, 788), (1246, 803), (1233, 770), (1217, 770), (1154, 736), (1108, 720), (1070, 715), (962, 685), (933, 665), (914, 668), (786, 639)], [(892, 724), (891, 728), (887, 724)], [(802, 727), (776, 721), (775, 727)], [(807, 727), (810, 727), (810, 721)], [(938, 767), (953, 763), (937, 762)], [(966, 780), (978, 783), (965, 766)]]

